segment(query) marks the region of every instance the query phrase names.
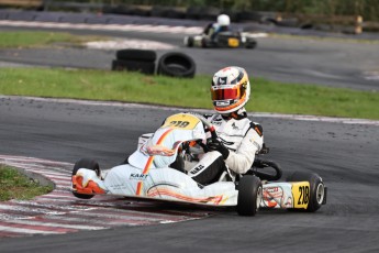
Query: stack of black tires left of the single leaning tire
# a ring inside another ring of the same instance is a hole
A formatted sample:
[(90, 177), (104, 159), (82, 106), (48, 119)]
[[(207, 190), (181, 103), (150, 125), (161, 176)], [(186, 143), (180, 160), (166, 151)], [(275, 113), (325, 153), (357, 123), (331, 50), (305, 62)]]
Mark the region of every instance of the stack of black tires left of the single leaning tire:
[(112, 70), (141, 72), (153, 75), (157, 55), (154, 51), (120, 50), (115, 53), (116, 59), (112, 61)]

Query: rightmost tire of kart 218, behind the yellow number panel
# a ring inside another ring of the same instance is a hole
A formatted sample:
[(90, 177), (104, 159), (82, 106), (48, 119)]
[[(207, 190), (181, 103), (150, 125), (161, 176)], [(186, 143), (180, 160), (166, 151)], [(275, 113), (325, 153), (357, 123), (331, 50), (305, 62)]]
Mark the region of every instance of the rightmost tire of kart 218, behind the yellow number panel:
[(294, 172), (287, 178), (287, 182), (310, 183), (309, 204), (305, 211), (315, 212), (321, 208), (324, 200), (326, 200), (326, 188), (322, 178), (315, 173)]

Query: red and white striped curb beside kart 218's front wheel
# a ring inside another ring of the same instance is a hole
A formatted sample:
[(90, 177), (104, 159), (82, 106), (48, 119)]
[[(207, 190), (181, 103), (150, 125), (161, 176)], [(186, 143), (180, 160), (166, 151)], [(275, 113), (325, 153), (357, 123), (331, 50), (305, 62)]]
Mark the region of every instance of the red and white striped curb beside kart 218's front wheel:
[(0, 164), (38, 174), (55, 189), (32, 200), (0, 202), (0, 238), (63, 234), (111, 229), (120, 226), (151, 226), (201, 219), (209, 211), (172, 210), (156, 202), (112, 196), (78, 199), (70, 193), (73, 164), (33, 157), (0, 155)]

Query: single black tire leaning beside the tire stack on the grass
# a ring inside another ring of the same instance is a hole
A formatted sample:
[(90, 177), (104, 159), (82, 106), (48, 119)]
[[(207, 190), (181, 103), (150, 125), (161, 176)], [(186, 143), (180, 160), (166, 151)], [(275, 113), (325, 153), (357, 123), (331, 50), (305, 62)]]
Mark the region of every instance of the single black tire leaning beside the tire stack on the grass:
[(171, 52), (164, 54), (158, 62), (158, 75), (192, 78), (196, 72), (196, 64), (186, 54)]

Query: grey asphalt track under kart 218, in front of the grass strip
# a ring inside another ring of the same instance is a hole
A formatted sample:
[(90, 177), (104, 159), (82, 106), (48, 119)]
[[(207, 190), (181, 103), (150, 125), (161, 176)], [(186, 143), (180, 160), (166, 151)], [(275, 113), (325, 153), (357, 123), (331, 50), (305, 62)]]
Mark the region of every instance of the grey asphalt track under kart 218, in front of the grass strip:
[[(317, 80), (317, 79), (316, 79)], [(176, 109), (80, 105), (0, 98), (0, 154), (74, 163), (96, 157), (104, 167), (130, 154)], [(233, 210), (207, 219), (64, 235), (0, 239), (1, 252), (378, 252), (377, 123), (294, 121), (250, 114), (264, 125), (269, 158), (285, 177), (320, 174), (327, 205), (315, 213)]]

